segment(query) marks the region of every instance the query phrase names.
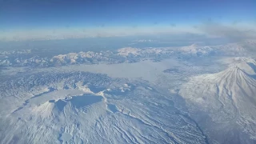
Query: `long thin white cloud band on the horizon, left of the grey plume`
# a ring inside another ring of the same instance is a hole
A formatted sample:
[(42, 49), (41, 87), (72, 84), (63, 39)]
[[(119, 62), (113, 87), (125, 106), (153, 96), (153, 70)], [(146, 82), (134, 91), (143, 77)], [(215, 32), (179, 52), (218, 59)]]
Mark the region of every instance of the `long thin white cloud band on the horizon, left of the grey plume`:
[(119, 37), (149, 34), (184, 34), (190, 28), (170, 26), (104, 26), (104, 27), (69, 27), (59, 29), (6, 30), (0, 33), (0, 41), (49, 40), (67, 38)]

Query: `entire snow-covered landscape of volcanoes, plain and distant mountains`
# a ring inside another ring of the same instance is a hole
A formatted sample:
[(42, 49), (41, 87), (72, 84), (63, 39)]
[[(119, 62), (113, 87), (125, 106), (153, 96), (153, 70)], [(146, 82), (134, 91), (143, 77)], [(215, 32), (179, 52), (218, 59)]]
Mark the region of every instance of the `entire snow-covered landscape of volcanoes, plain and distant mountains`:
[(254, 46), (0, 51), (0, 143), (255, 143)]

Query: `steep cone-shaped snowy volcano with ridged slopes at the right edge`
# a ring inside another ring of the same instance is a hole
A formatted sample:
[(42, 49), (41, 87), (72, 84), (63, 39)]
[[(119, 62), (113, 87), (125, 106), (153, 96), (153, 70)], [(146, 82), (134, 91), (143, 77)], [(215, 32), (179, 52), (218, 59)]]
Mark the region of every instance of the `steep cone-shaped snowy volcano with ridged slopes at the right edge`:
[(194, 114), (198, 114), (198, 110), (205, 112), (213, 122), (227, 125), (229, 129), (239, 126), (241, 133), (255, 140), (255, 67), (253, 58), (234, 58), (226, 70), (191, 78), (179, 94)]

